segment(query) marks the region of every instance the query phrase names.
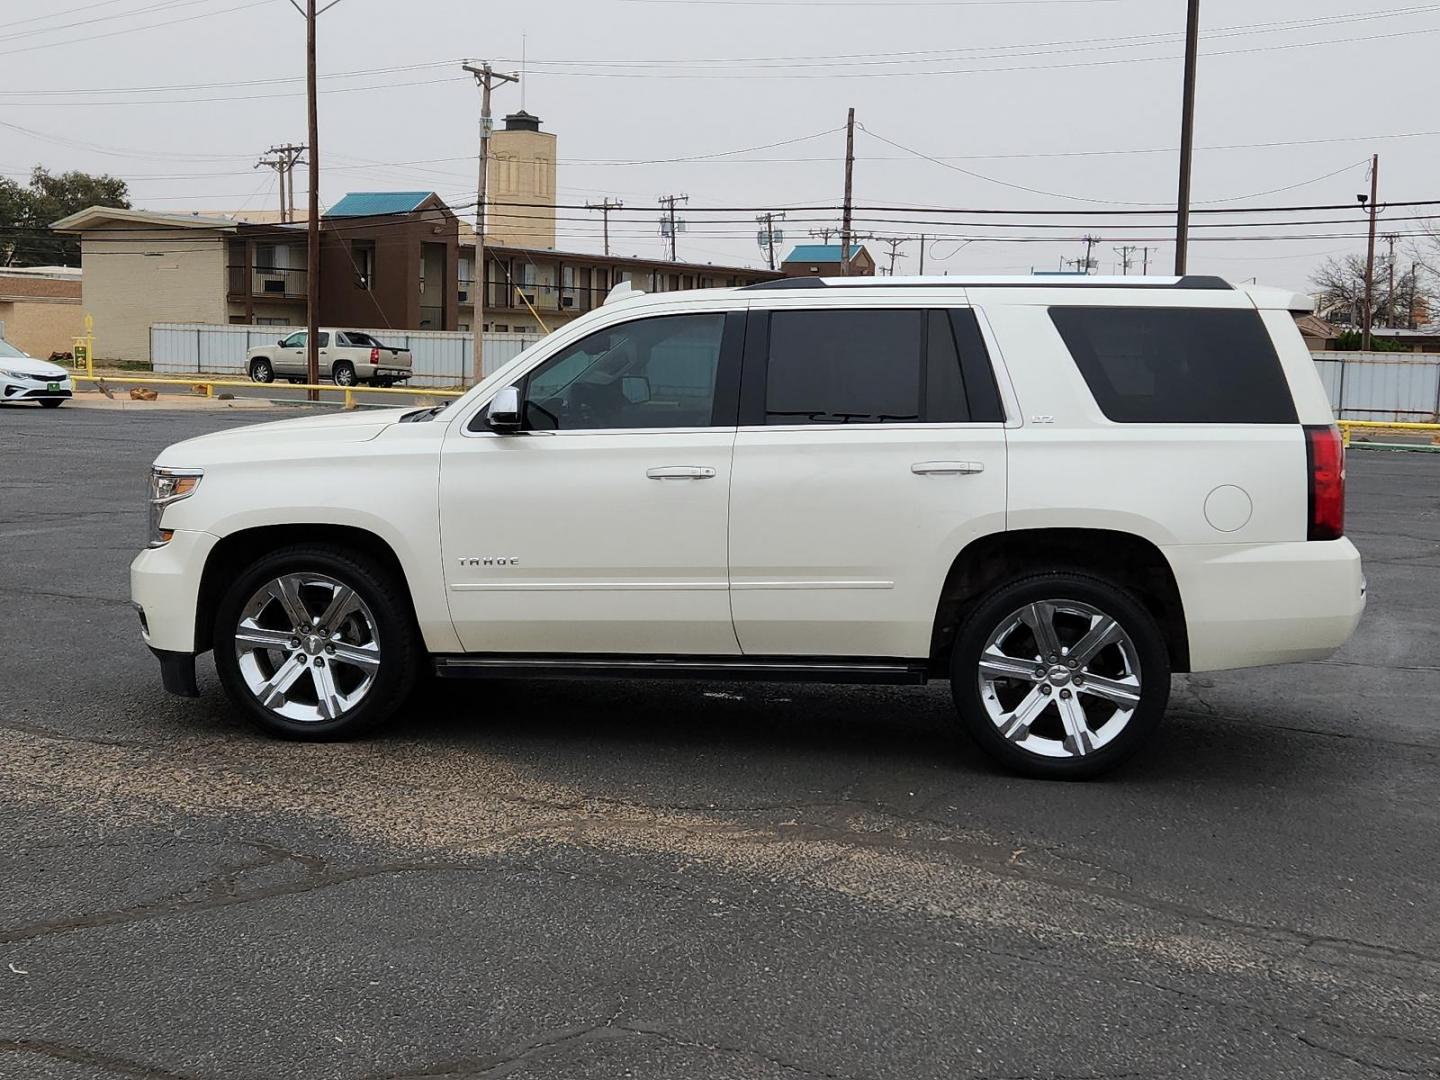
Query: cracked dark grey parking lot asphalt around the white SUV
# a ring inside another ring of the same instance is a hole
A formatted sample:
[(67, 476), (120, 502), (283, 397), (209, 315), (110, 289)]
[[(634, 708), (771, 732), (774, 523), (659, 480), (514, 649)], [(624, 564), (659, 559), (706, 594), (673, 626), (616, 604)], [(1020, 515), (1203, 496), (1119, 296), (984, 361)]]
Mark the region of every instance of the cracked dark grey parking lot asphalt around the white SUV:
[(1440, 1076), (1434, 455), (1351, 455), (1341, 654), (1043, 783), (942, 685), (168, 697), (147, 465), (265, 418), (0, 408), (0, 1077)]

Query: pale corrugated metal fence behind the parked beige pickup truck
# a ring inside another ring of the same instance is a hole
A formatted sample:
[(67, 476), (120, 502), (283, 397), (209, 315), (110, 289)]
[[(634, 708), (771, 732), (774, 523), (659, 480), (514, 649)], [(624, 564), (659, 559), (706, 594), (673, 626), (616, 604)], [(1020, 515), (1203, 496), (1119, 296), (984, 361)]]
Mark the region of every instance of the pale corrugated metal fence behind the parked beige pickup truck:
[[(245, 357), (252, 348), (272, 346), (304, 328), (157, 323), (150, 327), (150, 357), (156, 374), (243, 377)], [(354, 330), (361, 328), (354, 327)], [(410, 350), (415, 357), (410, 386), (471, 383), (474, 337), (468, 331), (366, 330), (364, 333), (376, 341)], [(539, 334), (485, 334), (485, 370), (494, 372), (539, 340)]]

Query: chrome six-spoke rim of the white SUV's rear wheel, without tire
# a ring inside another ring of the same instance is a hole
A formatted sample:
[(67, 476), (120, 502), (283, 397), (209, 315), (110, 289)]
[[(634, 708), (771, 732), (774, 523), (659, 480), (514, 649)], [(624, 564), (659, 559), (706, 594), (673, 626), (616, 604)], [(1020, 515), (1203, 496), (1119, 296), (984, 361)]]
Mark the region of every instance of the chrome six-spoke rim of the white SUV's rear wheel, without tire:
[(1099, 608), (1040, 600), (989, 635), (979, 690), (991, 723), (1014, 746), (1043, 757), (1084, 757), (1115, 742), (1135, 716), (1139, 651)]

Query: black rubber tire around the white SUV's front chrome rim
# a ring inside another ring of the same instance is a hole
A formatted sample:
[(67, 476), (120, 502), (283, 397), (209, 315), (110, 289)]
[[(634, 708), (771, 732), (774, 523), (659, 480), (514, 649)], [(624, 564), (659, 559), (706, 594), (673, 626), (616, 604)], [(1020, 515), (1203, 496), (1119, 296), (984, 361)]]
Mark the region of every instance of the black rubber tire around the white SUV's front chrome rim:
[[(346, 585), (374, 618), (380, 651), (374, 681), (353, 708), (336, 719), (297, 720), (272, 711), (261, 704), (240, 670), (235, 638), (245, 605), (284, 575), (323, 575)], [(336, 544), (295, 544), (271, 552), (245, 567), (216, 609), (215, 668), (220, 685), (252, 723), (284, 739), (334, 742), (374, 730), (405, 704), (425, 662), (405, 583), (374, 559)]]

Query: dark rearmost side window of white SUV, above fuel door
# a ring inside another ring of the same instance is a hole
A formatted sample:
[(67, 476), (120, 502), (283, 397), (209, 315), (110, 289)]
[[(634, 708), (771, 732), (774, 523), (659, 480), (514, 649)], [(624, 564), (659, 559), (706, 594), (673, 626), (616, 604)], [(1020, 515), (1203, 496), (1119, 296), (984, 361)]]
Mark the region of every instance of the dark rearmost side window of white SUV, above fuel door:
[(1100, 410), (1120, 423), (1296, 423), (1256, 311), (1050, 308)]

